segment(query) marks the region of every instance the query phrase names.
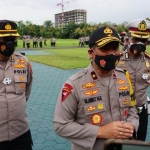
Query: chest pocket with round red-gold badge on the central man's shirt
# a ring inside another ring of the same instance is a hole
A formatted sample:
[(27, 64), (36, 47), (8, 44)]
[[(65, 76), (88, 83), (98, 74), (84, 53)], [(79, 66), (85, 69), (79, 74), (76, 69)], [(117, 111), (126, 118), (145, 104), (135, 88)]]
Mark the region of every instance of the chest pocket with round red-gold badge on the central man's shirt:
[(94, 125), (105, 125), (107, 123), (106, 106), (103, 101), (84, 106), (87, 122)]

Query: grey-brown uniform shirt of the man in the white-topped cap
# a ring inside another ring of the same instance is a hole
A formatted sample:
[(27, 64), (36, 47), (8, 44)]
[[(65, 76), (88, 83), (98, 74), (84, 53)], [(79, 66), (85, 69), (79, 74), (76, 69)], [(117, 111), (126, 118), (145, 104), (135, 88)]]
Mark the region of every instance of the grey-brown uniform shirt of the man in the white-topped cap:
[(129, 57), (127, 50), (118, 64), (119, 68), (128, 70), (132, 81), (137, 106), (147, 102), (147, 88), (150, 84), (150, 56), (147, 53), (137, 59)]

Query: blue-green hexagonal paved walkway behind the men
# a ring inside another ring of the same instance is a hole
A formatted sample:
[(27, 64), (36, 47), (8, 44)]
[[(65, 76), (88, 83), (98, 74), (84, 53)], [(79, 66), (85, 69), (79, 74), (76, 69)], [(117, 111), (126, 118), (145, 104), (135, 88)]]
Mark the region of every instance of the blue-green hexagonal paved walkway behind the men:
[[(40, 51), (21, 51), (26, 55), (44, 54)], [(33, 87), (27, 106), (27, 115), (34, 142), (33, 150), (70, 150), (71, 143), (53, 130), (53, 112), (58, 94), (68, 77), (79, 69), (62, 70), (31, 62)], [(150, 91), (149, 91), (150, 95)], [(147, 141), (150, 141), (150, 118)]]

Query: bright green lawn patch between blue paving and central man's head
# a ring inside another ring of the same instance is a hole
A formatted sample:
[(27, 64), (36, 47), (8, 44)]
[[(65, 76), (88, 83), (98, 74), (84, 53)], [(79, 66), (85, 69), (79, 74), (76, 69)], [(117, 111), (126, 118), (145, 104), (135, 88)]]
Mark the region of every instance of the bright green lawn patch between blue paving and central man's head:
[(29, 60), (62, 69), (84, 68), (89, 64), (87, 48), (43, 50), (50, 55), (30, 55)]

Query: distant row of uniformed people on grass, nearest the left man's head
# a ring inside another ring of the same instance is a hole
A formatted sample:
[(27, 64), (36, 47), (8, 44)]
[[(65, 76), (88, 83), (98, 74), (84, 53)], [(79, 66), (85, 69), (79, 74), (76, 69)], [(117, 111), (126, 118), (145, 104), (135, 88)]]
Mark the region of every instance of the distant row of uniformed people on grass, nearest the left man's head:
[[(22, 38), (22, 41), (23, 41), (23, 48), (31, 48), (31, 44), (30, 44), (30, 37), (29, 36), (23, 36)], [(47, 46), (47, 39), (46, 38), (43, 38), (43, 37), (36, 37), (34, 36), (32, 38), (32, 41), (33, 41), (33, 48), (37, 48), (37, 47), (40, 47), (42, 48), (43, 47), (43, 41), (44, 41), (44, 45)], [(52, 37), (50, 39), (50, 45), (55, 47), (56, 46), (56, 38)]]

